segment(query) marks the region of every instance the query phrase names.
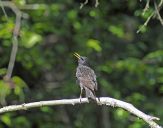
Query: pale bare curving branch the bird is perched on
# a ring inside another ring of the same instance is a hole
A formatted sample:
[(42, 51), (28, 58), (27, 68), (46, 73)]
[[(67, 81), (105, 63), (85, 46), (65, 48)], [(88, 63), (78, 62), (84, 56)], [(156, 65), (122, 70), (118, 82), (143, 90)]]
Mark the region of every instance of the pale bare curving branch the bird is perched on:
[[(127, 110), (128, 112), (134, 114), (135, 116), (141, 118), (146, 123), (150, 125), (152, 128), (162, 128), (157, 123), (155, 123), (153, 120), (159, 120), (159, 118), (147, 115), (137, 108), (135, 108), (132, 104), (117, 100), (110, 97), (101, 97), (99, 100), (97, 100), (98, 104), (112, 106), (112, 107), (120, 107), (124, 110)], [(82, 98), (81, 103), (89, 103), (89, 100), (87, 98)], [(51, 101), (39, 101), (39, 102), (33, 102), (33, 103), (24, 103), (21, 105), (11, 105), (6, 106), (3, 108), (0, 108), (0, 113), (10, 112), (10, 111), (18, 111), (18, 110), (27, 110), (30, 108), (36, 108), (36, 107), (43, 107), (43, 106), (55, 106), (55, 105), (75, 105), (75, 104), (81, 104), (80, 99), (62, 99), (62, 100), (51, 100)]]

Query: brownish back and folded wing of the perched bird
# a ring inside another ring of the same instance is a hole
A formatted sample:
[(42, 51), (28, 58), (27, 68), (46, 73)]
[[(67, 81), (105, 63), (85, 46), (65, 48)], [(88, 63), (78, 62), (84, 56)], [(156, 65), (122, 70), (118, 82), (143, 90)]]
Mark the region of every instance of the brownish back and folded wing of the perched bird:
[(78, 67), (76, 77), (83, 86), (86, 86), (91, 90), (97, 90), (96, 75), (91, 68), (87, 66)]

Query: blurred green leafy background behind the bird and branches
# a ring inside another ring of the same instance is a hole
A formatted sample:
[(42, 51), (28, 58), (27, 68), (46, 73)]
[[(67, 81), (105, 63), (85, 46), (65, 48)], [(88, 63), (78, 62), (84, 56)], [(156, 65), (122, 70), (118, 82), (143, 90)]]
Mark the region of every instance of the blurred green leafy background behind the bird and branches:
[[(163, 28), (157, 19), (137, 34), (154, 7), (146, 1), (12, 0), (22, 19), (11, 82), (4, 80), (15, 14), (0, 11), (0, 106), (78, 98), (77, 60), (87, 56), (97, 74), (98, 96), (132, 103), (163, 119)], [(36, 9), (27, 9), (27, 5)], [(2, 9), (1, 9), (2, 10)], [(161, 13), (160, 13), (161, 14)], [(163, 120), (158, 122), (163, 125)], [(0, 115), (0, 128), (147, 128), (120, 109), (95, 104), (41, 107)]]

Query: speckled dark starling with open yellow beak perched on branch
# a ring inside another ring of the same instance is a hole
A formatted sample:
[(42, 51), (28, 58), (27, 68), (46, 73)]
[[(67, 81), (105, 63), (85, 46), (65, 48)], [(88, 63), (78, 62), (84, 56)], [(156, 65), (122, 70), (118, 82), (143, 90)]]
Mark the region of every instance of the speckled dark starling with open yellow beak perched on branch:
[(96, 101), (95, 91), (97, 90), (97, 81), (94, 71), (88, 66), (87, 57), (80, 56), (74, 53), (78, 58), (78, 67), (76, 69), (77, 83), (80, 85), (80, 102), (82, 98), (83, 89), (85, 90), (86, 97)]

